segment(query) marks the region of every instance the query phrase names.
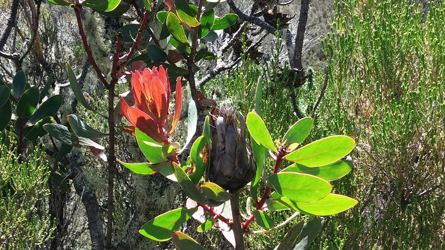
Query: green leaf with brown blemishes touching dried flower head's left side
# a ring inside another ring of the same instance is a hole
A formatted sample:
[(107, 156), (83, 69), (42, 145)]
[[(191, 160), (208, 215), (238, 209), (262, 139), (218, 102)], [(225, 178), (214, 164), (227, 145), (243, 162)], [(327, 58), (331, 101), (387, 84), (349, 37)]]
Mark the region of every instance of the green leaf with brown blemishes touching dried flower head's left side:
[(197, 184), (204, 174), (205, 167), (208, 162), (208, 148), (206, 146), (206, 139), (203, 135), (196, 138), (190, 149), (190, 160), (193, 167), (193, 172), (191, 172), (188, 177), (190, 180)]

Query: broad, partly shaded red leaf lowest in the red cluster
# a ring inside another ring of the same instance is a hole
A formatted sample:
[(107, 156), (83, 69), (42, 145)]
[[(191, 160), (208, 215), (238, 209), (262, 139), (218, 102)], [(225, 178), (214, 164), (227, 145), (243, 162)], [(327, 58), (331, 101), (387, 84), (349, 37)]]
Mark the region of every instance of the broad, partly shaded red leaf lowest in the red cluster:
[[(124, 113), (125, 115), (125, 113)], [(146, 113), (135, 107), (128, 107), (126, 114), (128, 121), (140, 131), (146, 133), (159, 143), (167, 143), (168, 140), (162, 134), (160, 127)], [(126, 117), (125, 116), (125, 117)]]

